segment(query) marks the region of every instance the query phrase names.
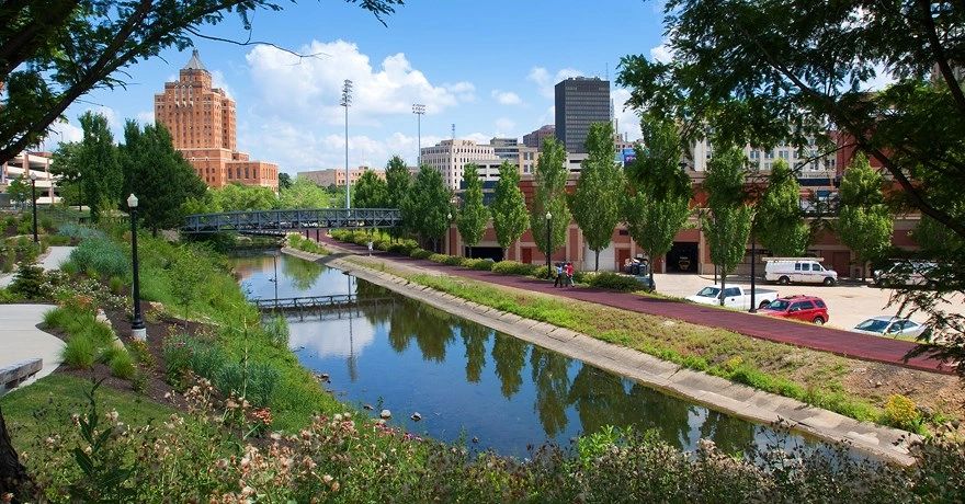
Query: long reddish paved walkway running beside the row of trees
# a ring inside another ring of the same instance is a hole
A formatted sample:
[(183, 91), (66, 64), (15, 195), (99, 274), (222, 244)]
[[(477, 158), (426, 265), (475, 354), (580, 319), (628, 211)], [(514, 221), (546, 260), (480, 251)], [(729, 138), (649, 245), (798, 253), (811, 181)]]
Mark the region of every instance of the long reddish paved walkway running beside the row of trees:
[[(323, 237), (321, 241), (360, 255), (368, 253), (365, 247), (339, 242), (329, 237)], [(932, 358), (919, 356), (906, 360), (905, 355), (915, 348), (916, 345), (900, 340), (852, 333), (827, 327), (790, 322), (741, 311), (724, 310), (709, 306), (644, 297), (634, 294), (583, 287), (570, 289), (554, 288), (549, 282), (527, 276), (500, 275), (458, 266), (446, 266), (431, 261), (415, 260), (379, 251), (373, 252), (373, 255), (384, 256), (384, 259), (390, 259), (398, 263), (438, 271), (453, 276), (595, 302), (639, 313), (678, 319), (697, 325), (727, 329), (762, 340), (831, 352), (845, 357), (893, 364), (924, 371), (954, 374), (952, 367), (942, 365), (939, 360)]]

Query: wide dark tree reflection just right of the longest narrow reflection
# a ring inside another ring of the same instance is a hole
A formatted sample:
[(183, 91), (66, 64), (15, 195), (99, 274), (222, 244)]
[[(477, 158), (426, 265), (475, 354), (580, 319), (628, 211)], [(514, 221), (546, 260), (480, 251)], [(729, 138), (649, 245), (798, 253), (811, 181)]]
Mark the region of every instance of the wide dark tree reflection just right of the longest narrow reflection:
[(624, 426), (629, 401), (623, 388), (623, 379), (583, 365), (569, 389), (568, 402), (580, 415), (582, 432), (594, 433), (604, 425)]

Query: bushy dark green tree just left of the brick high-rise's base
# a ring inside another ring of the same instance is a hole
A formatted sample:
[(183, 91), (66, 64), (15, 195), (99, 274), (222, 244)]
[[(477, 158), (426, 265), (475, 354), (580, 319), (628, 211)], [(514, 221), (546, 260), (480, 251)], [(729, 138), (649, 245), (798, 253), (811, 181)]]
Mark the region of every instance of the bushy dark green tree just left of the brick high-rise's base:
[(141, 222), (155, 236), (159, 229), (180, 225), (188, 198), (201, 198), (207, 191), (191, 164), (174, 150), (171, 134), (161, 124), (141, 129), (137, 122), (127, 121), (121, 167), (123, 194), (137, 196)]

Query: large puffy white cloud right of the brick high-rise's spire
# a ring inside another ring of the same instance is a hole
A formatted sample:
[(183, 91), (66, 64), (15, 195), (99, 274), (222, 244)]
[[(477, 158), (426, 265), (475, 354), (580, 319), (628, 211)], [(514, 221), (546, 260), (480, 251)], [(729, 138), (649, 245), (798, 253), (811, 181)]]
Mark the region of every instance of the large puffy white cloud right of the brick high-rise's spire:
[(367, 55), (345, 41), (313, 41), (298, 49), (303, 54), (325, 54), (299, 59), (274, 47), (259, 46), (246, 56), (252, 81), (258, 82), (263, 113), (303, 123), (306, 119), (338, 124), (344, 111), (339, 105), (342, 84), (353, 81), (352, 106), (356, 124), (378, 125), (379, 117), (410, 114), (412, 103), (427, 112), (442, 113), (461, 102), (475, 100), (470, 82), (432, 84), (406, 55), (386, 57), (375, 68)]

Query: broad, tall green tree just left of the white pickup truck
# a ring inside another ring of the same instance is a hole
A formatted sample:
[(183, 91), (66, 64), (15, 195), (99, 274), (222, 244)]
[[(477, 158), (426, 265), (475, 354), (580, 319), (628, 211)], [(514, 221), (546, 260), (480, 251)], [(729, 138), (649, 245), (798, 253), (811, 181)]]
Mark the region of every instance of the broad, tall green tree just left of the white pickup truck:
[(680, 169), (683, 149), (673, 122), (645, 115), (640, 121), (644, 147), (636, 149), (636, 160), (627, 167), (623, 218), (627, 231), (654, 260), (673, 247), (673, 238), (690, 215), (693, 194), (690, 176)]

